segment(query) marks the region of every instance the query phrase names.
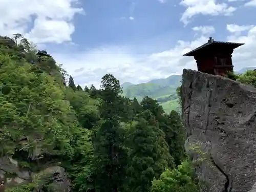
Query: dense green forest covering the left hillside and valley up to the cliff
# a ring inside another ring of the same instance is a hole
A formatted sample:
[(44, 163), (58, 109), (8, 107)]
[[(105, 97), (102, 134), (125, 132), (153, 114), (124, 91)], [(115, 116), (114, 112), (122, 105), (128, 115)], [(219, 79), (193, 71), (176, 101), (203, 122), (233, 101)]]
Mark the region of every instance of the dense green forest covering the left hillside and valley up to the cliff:
[[(71, 76), (65, 86), (61, 66), (18, 38), (0, 38), (1, 156), (33, 173), (60, 163), (73, 192), (197, 191), (192, 166), (184, 161), (179, 113), (164, 114), (150, 97), (138, 102), (121, 96), (111, 74), (102, 77), (101, 89), (82, 90)], [(48, 183), (8, 191), (52, 191)]]

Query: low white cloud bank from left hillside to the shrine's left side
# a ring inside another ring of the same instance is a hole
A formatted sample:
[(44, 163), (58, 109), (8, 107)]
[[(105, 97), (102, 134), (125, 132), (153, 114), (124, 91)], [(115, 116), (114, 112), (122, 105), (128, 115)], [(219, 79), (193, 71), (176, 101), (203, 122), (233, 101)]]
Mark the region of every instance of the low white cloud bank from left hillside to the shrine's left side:
[[(112, 73), (121, 82), (140, 83), (181, 74), (183, 68), (196, 69), (194, 59), (182, 55), (204, 44), (207, 39), (202, 36), (191, 42), (179, 40), (174, 48), (150, 55), (136, 55), (125, 47), (104, 47), (82, 54), (52, 55), (81, 86), (94, 83), (99, 87), (100, 79), (106, 73)], [(75, 69), (80, 69), (80, 72)]]

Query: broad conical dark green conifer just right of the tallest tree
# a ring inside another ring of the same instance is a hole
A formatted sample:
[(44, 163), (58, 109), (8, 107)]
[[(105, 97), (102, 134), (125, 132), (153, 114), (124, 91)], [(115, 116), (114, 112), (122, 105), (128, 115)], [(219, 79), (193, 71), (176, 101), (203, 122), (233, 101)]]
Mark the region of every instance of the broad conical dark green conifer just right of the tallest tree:
[(151, 181), (159, 178), (168, 165), (174, 164), (164, 135), (151, 112), (141, 113), (137, 121), (130, 139), (128, 188), (134, 192), (150, 191)]

